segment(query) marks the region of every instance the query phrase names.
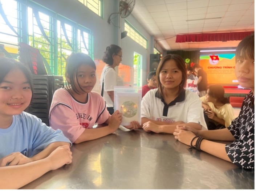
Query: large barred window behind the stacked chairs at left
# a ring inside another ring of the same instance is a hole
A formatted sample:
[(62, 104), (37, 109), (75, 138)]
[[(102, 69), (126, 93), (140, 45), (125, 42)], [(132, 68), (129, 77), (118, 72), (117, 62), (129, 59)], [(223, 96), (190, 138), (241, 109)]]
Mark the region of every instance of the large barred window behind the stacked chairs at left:
[(84, 52), (93, 59), (92, 33), (84, 26), (32, 1), (28, 5), (16, 0), (0, 2), (0, 52), (6, 57), (17, 59), (18, 43), (27, 43), (40, 50), (49, 71), (62, 76), (72, 52)]

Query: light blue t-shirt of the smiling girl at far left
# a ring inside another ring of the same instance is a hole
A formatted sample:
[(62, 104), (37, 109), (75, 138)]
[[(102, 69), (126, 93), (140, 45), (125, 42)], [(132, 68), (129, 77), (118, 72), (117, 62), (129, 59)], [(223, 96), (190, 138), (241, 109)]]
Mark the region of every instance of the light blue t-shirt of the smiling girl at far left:
[(71, 144), (61, 130), (55, 131), (36, 116), (23, 112), (13, 116), (10, 127), (0, 128), (0, 158), (13, 152), (32, 157), (56, 141)]

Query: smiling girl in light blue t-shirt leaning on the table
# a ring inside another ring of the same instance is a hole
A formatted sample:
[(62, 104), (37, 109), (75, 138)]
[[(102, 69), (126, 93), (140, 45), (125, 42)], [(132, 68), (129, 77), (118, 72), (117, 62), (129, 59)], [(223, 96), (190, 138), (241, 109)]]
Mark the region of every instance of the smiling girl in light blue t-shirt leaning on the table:
[(31, 72), (0, 58), (0, 188), (17, 189), (50, 170), (70, 164), (70, 141), (24, 112), (32, 97)]

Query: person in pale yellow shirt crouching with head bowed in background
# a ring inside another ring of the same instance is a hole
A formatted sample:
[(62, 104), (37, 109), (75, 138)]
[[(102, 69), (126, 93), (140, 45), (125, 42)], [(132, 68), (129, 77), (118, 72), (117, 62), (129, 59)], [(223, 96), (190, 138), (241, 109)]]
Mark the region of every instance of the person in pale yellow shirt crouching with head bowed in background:
[[(211, 85), (206, 96), (200, 97), (206, 116), (208, 130), (223, 129), (230, 126), (235, 119), (234, 109), (224, 97), (224, 88), (221, 85)], [(208, 118), (208, 119), (207, 119)], [(208, 123), (207, 123), (208, 121)]]

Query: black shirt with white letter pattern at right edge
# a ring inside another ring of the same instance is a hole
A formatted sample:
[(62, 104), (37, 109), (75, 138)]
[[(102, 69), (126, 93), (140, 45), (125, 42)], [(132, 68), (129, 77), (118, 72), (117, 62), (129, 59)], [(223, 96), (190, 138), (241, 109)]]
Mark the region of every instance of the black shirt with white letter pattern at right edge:
[(252, 91), (244, 98), (239, 116), (228, 130), (235, 141), (225, 149), (233, 164), (246, 169), (254, 169), (254, 95)]

